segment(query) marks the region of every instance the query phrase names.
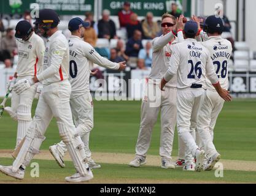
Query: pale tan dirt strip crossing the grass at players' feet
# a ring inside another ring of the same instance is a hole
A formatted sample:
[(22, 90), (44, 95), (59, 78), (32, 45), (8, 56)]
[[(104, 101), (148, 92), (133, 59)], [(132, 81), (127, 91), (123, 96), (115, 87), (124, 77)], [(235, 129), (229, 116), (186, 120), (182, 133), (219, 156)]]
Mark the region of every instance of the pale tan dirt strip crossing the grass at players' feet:
[[(11, 158), (12, 151), (1, 149), (0, 157)], [(35, 159), (43, 160), (54, 160), (52, 155), (47, 150), (42, 150), (40, 154), (37, 154)], [(99, 163), (106, 164), (128, 164), (134, 158), (134, 154), (125, 154), (125, 153), (93, 153), (93, 159)], [(176, 157), (173, 157), (175, 160)], [(64, 160), (71, 160), (67, 154), (64, 157)], [(227, 160), (221, 159), (220, 162), (223, 164), (225, 170), (237, 170), (237, 171), (256, 171), (256, 161), (248, 160)], [(147, 156), (147, 164), (150, 166), (160, 166), (161, 159), (159, 156)], [(130, 179), (127, 179), (131, 181)], [(106, 182), (105, 182), (106, 183)], [(109, 182), (111, 183), (111, 182)], [(134, 182), (135, 183), (135, 182)], [(143, 182), (141, 182), (143, 183)], [(149, 182), (150, 183), (150, 182)], [(163, 183), (162, 181), (160, 183)], [(188, 182), (189, 183), (189, 182)]]

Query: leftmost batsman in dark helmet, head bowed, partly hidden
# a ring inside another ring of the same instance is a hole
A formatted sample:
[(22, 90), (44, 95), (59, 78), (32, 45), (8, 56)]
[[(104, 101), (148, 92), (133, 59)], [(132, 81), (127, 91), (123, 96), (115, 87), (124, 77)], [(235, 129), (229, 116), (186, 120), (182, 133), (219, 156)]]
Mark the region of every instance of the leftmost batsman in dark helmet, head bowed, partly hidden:
[[(44, 40), (34, 33), (31, 24), (26, 20), (18, 22), (15, 28), (15, 38), (18, 40), (18, 65), (14, 78), (10, 81), (9, 89), (15, 82), (24, 78), (33, 78), (42, 69), (44, 59)], [(31, 107), (36, 92), (40, 92), (41, 84), (31, 86), (26, 91), (17, 94), (12, 91), (11, 107), (4, 108), (9, 115), (18, 121), (16, 147), (25, 137), (29, 124), (32, 121)]]

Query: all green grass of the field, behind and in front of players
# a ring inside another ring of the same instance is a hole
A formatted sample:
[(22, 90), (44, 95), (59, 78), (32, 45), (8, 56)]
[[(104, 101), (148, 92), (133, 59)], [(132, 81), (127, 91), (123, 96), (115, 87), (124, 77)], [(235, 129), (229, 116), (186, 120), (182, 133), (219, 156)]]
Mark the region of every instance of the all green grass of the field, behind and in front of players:
[[(10, 105), (8, 100), (6, 105)], [(33, 105), (33, 113), (36, 102)], [(129, 153), (134, 154), (134, 148), (139, 131), (140, 122), (140, 101), (94, 101), (95, 127), (91, 132), (90, 149), (92, 152), (102, 153)], [(256, 161), (256, 100), (234, 100), (225, 103), (222, 112), (217, 120), (214, 131), (214, 143), (222, 159), (252, 160)], [(159, 116), (158, 116), (159, 117)], [(12, 121), (6, 113), (0, 119), (0, 149), (13, 149), (15, 146), (17, 123)], [(41, 149), (48, 149), (48, 146), (60, 140), (56, 121), (47, 129), (46, 140)], [(155, 124), (152, 142), (148, 154), (158, 155), (160, 143), (160, 121), (158, 118)], [(177, 132), (174, 137), (173, 156), (177, 156)], [(0, 164), (10, 164), (11, 159), (1, 158)], [(60, 176), (72, 174), (71, 162), (69, 167), (61, 170), (51, 160), (39, 160), (41, 166), (41, 178), (54, 179)], [(96, 179), (155, 179), (173, 181), (186, 179), (198, 179), (204, 182), (244, 182), (256, 183), (255, 171), (228, 171), (225, 170), (224, 178), (215, 178), (214, 171), (189, 173), (176, 170), (166, 170), (160, 167), (144, 166), (142, 168), (130, 168), (123, 164), (102, 164), (103, 168), (94, 170)], [(113, 173), (112, 170), (115, 170)], [(0, 183), (10, 181), (0, 174)], [(31, 178), (30, 178), (31, 179)], [(37, 182), (37, 181), (34, 181)], [(124, 181), (125, 182), (125, 181)], [(120, 181), (122, 183), (122, 181)]]

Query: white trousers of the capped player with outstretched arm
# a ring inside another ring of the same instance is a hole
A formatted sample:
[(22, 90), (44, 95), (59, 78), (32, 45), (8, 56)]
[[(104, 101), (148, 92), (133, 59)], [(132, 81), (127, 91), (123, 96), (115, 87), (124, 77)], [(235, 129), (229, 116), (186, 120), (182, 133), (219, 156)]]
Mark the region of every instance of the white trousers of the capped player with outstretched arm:
[[(90, 92), (82, 94), (79, 97), (70, 99), (70, 106), (74, 124), (76, 126), (76, 133), (81, 137), (85, 145), (85, 154), (87, 159), (91, 158), (91, 151), (89, 148), (90, 132), (93, 129), (93, 99)], [(57, 144), (58, 151), (64, 156), (68, 151), (63, 141)]]

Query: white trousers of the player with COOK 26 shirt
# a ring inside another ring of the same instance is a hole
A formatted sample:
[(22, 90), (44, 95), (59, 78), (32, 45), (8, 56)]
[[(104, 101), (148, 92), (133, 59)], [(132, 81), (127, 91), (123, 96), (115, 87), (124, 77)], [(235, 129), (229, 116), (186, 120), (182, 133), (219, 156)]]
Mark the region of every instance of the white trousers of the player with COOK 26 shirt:
[(203, 103), (203, 88), (177, 89), (177, 131), (186, 145), (185, 164), (193, 164), (198, 146), (195, 142), (193, 127), (198, 119), (198, 111)]

